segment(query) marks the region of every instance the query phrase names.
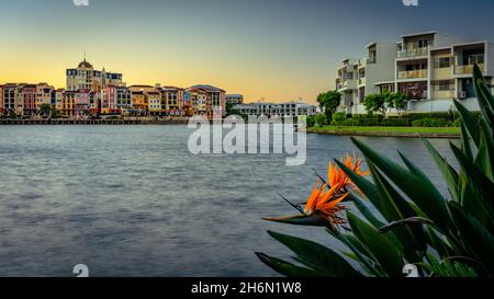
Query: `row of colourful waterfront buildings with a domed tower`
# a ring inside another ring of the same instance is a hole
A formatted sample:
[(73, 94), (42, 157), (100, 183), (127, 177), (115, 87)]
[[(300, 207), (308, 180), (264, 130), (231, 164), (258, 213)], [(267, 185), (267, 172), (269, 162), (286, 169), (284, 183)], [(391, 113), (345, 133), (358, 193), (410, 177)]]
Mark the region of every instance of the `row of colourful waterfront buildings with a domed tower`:
[[(132, 85), (121, 73), (96, 70), (86, 60), (75, 69), (66, 70), (66, 89), (47, 83), (7, 83), (0, 85), (0, 113), (38, 115), (40, 107), (49, 104), (64, 116), (97, 114), (191, 116), (214, 113), (226, 115), (225, 91), (212, 85), (195, 85), (188, 90), (177, 87)], [(235, 101), (243, 101), (234, 95)], [(233, 99), (232, 97), (232, 99)], [(234, 100), (232, 100), (234, 101)]]

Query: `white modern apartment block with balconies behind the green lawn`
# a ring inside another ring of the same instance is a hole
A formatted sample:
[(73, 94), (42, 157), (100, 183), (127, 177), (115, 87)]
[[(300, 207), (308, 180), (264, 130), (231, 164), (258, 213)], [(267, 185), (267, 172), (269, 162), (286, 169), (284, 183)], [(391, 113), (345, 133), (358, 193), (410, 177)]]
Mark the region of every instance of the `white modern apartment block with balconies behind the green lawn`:
[(494, 45), (486, 41), (425, 32), (403, 35), (396, 44), (372, 43), (367, 51), (366, 58), (345, 59), (338, 69), (341, 112), (366, 113), (366, 95), (383, 90), (407, 95), (409, 113), (448, 112), (453, 99), (475, 111), (473, 65), (481, 67), (489, 84), (494, 77)]

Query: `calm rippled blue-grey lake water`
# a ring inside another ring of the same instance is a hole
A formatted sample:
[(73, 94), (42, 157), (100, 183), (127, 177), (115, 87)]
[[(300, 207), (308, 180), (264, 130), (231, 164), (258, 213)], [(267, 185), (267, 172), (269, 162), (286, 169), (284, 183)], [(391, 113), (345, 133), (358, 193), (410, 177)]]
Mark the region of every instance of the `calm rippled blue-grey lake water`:
[[(310, 135), (303, 166), (282, 156), (192, 156), (184, 126), (0, 127), (0, 276), (277, 276), (256, 258), (290, 253), (266, 231), (338, 246), (322, 229), (260, 220), (306, 199), (313, 170), (355, 151)], [(361, 138), (403, 151), (440, 182), (418, 139)], [(448, 140), (433, 140), (448, 154)], [(450, 154), (448, 154), (450, 157)], [(445, 186), (439, 185), (444, 191)]]

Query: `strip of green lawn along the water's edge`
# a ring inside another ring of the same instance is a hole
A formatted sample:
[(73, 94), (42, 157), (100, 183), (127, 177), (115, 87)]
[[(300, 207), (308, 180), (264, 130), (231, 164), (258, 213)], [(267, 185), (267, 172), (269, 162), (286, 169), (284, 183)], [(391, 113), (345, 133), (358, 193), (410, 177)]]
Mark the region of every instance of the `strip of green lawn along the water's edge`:
[(322, 134), (403, 134), (403, 135), (460, 135), (460, 128), (425, 128), (425, 127), (314, 127), (308, 128), (310, 133), (322, 133)]

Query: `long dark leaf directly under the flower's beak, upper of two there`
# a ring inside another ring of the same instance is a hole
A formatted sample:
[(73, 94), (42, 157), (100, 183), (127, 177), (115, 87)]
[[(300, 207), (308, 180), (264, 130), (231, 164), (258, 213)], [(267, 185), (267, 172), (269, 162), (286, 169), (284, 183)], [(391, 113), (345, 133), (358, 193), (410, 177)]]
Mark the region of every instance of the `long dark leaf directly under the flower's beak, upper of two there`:
[(273, 231), (268, 233), (293, 251), (300, 262), (316, 272), (324, 273), (328, 277), (361, 276), (345, 258), (324, 245)]

